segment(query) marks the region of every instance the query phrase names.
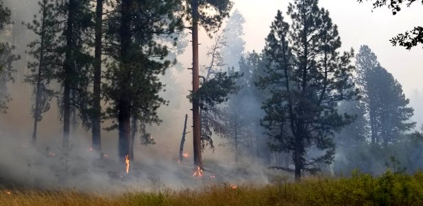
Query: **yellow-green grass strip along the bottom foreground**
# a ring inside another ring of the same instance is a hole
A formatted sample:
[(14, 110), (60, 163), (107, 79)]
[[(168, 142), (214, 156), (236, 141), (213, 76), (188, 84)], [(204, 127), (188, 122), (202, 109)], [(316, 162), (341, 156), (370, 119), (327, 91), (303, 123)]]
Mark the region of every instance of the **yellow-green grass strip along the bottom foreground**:
[(70, 190), (2, 188), (0, 205), (423, 205), (423, 172), (354, 172), (349, 178), (285, 179), (262, 187), (214, 185), (202, 190), (95, 194)]

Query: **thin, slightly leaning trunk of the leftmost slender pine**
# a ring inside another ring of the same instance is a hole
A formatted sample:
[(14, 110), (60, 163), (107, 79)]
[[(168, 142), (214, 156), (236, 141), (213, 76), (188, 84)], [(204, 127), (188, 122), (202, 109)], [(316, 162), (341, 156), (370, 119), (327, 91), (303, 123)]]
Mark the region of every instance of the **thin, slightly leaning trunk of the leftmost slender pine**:
[(35, 98), (35, 108), (34, 108), (34, 131), (32, 132), (32, 145), (36, 145), (37, 141), (37, 126), (38, 126), (38, 117), (40, 116), (40, 100), (41, 100), (41, 81), (43, 80), (42, 74), (45, 65), (44, 60), (44, 49), (45, 49), (45, 16), (47, 16), (47, 2), (43, 2), (43, 22), (41, 23), (41, 42), (40, 42), (40, 62), (38, 65), (38, 74), (37, 74), (37, 88), (36, 88), (36, 98)]

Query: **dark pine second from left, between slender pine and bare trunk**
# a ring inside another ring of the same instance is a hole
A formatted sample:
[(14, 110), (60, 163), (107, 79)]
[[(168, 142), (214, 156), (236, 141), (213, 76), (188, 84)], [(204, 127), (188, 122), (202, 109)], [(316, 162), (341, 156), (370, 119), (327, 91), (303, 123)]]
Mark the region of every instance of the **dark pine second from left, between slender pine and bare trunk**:
[(88, 37), (86, 34), (88, 34), (92, 16), (88, 0), (57, 1), (56, 11), (62, 20), (61, 34), (58, 37), (60, 45), (57, 52), (63, 67), (56, 71), (55, 78), (61, 84), (59, 105), (63, 121), (62, 150), (67, 157), (73, 108), (79, 111), (84, 122), (88, 122), (86, 106), (89, 97), (88, 84), (92, 58), (86, 48)]

